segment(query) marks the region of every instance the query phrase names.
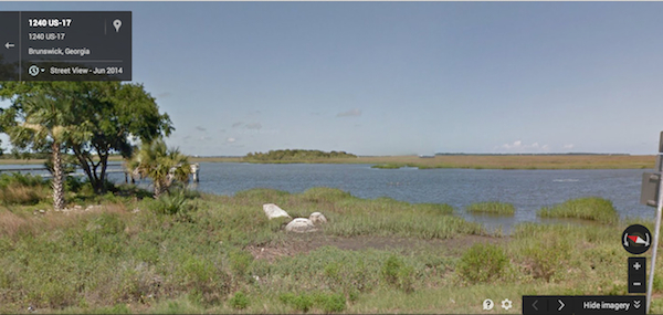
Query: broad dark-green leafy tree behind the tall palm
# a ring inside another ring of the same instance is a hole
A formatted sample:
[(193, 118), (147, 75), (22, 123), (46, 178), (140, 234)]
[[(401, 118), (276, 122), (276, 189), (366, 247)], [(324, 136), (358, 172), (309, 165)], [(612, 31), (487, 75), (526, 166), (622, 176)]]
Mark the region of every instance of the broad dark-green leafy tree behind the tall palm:
[[(74, 154), (97, 193), (106, 191), (112, 154), (129, 158), (131, 140), (149, 143), (175, 129), (168, 114), (159, 113), (155, 98), (141, 84), (118, 82), (2, 82), (0, 98), (10, 99), (12, 105), (0, 113), (0, 126), (9, 130), (20, 125), (25, 117), (25, 102), (39, 91), (56, 92), (59, 99), (69, 102), (67, 109), (74, 115), (63, 123), (78, 126), (77, 130), (87, 136), (67, 138), (63, 147)], [(19, 148), (34, 145), (11, 135), (10, 140)]]

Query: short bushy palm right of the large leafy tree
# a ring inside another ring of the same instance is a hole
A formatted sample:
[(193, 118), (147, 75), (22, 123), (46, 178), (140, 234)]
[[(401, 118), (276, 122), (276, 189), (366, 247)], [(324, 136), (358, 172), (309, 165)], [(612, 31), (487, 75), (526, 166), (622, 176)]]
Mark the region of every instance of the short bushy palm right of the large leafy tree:
[(191, 174), (189, 157), (177, 148), (168, 148), (161, 138), (145, 143), (128, 164), (129, 172), (151, 178), (155, 198), (177, 181), (188, 181)]

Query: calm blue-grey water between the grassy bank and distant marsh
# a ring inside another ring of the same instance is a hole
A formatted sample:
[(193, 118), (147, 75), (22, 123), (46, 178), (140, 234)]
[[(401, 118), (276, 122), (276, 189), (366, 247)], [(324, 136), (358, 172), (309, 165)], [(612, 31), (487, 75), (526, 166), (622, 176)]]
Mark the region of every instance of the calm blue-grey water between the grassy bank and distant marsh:
[[(18, 168), (20, 166), (0, 166)], [(30, 167), (30, 166), (22, 166)], [(469, 220), (503, 225), (540, 222), (536, 211), (572, 198), (597, 196), (613, 202), (622, 218), (654, 218), (654, 208), (639, 203), (643, 170), (473, 170), (372, 169), (370, 165), (314, 164), (200, 164), (198, 189), (233, 195), (252, 188), (302, 192), (312, 187), (333, 187), (360, 198), (390, 197), (408, 202), (449, 203)], [(110, 179), (124, 181), (120, 174)], [(509, 202), (513, 218), (471, 216), (464, 207), (478, 201)], [(270, 200), (264, 200), (270, 202)], [(287, 209), (286, 209), (287, 211)]]

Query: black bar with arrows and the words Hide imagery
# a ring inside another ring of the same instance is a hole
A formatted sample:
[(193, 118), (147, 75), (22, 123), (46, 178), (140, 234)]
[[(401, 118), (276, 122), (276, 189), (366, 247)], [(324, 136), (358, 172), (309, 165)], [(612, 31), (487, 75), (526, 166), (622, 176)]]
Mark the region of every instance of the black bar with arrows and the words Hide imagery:
[(644, 295), (524, 295), (524, 315), (645, 314)]

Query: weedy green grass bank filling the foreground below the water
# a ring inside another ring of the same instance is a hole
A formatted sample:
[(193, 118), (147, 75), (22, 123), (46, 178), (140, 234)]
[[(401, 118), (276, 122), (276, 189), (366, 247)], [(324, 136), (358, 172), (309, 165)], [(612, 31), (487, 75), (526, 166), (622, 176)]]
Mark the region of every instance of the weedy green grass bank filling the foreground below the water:
[[(0, 313), (467, 314), (485, 296), (627, 292), (614, 235), (628, 222), (598, 198), (541, 210), (587, 224), (524, 223), (503, 235), (449, 204), (332, 188), (229, 197), (172, 186), (155, 199), (131, 185), (97, 195), (70, 177), (65, 187), (66, 208), (54, 211), (49, 180), (0, 176)], [(267, 219), (264, 203), (328, 221), (286, 232), (290, 219)], [(663, 312), (660, 298), (652, 312)]]

